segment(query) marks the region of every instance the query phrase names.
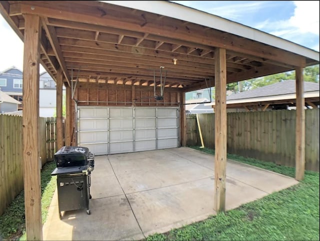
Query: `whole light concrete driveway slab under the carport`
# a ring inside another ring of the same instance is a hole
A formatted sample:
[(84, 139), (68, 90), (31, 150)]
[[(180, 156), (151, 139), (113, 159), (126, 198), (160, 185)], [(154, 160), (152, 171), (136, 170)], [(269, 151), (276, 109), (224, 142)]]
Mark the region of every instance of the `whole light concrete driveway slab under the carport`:
[[(226, 209), (298, 183), (231, 160), (226, 176)], [(214, 156), (188, 147), (95, 156), (90, 192), (91, 215), (60, 220), (55, 191), (44, 240), (137, 240), (214, 215)]]

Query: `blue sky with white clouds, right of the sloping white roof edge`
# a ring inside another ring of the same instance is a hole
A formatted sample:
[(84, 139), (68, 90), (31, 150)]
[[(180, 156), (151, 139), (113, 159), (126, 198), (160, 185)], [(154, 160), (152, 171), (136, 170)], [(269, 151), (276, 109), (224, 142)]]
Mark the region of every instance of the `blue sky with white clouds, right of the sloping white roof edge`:
[(319, 1), (172, 1), (319, 51)]

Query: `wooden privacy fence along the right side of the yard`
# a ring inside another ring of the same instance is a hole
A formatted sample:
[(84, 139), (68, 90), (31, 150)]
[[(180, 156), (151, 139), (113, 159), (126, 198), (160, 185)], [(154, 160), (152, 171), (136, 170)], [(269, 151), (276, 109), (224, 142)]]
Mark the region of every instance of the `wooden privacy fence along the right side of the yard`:
[[(227, 152), (295, 167), (295, 110), (227, 113)], [(214, 113), (198, 114), (205, 147), (214, 148)], [(201, 145), (195, 115), (187, 145)], [(319, 171), (319, 109), (305, 110), (305, 169)]]

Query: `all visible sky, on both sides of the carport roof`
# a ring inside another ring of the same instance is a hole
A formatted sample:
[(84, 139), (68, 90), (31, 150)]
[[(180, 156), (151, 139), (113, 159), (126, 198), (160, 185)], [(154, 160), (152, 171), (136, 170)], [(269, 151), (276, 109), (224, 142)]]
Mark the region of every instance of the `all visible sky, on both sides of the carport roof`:
[[(319, 1), (173, 1), (319, 51)], [(0, 71), (22, 70), (23, 44), (0, 14)], [(44, 68), (40, 65), (40, 71)]]

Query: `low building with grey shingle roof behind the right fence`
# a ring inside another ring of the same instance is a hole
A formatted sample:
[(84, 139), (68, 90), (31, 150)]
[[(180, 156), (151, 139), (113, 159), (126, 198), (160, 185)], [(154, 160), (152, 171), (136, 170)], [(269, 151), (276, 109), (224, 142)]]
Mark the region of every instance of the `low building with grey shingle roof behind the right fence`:
[[(319, 83), (303, 81), (306, 108), (319, 107)], [(276, 82), (226, 97), (227, 112), (295, 108), (295, 80)], [(215, 103), (206, 103), (214, 108)]]

